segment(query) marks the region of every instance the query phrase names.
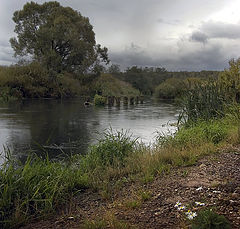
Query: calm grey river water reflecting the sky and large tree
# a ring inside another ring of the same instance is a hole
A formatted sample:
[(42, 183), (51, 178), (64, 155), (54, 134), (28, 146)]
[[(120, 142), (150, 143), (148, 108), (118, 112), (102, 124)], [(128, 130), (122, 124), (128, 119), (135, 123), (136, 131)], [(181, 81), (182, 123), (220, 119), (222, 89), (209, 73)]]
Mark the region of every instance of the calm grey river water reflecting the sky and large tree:
[(178, 107), (148, 99), (143, 104), (121, 107), (84, 106), (82, 99), (24, 100), (0, 105), (0, 152), (9, 148), (18, 157), (27, 149), (47, 150), (51, 157), (85, 153), (104, 130), (128, 130), (149, 144), (156, 132), (172, 133)]

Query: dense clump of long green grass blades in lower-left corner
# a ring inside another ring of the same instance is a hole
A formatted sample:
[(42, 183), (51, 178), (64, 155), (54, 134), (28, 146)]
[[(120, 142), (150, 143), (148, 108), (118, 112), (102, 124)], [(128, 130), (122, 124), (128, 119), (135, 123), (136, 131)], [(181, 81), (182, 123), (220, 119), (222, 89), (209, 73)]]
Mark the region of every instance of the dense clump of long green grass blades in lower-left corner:
[(38, 157), (28, 157), (24, 164), (8, 159), (0, 182), (0, 227), (6, 228), (54, 212), (87, 186), (78, 170)]

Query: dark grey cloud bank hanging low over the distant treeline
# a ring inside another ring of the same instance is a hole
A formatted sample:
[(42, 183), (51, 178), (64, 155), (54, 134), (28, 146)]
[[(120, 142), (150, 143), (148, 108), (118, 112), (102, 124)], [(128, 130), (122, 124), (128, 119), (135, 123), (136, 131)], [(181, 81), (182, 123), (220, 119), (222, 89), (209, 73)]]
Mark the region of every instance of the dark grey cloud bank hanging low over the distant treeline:
[(189, 48), (180, 55), (149, 55), (143, 50), (135, 52), (126, 50), (122, 52), (110, 52), (113, 63), (119, 64), (122, 69), (129, 66), (159, 66), (170, 71), (201, 71), (201, 70), (223, 70), (228, 66), (226, 50), (220, 45), (212, 45), (191, 51)]

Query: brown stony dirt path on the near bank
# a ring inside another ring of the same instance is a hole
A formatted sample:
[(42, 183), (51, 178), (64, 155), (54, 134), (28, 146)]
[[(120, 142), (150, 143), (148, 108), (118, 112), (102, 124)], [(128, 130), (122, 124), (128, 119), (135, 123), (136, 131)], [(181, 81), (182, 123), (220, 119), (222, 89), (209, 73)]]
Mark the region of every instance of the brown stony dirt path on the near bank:
[[(54, 217), (25, 226), (29, 228), (82, 228), (83, 219), (101, 218), (109, 212), (118, 220), (136, 228), (183, 228), (184, 213), (175, 207), (177, 201), (198, 211), (195, 202), (205, 207), (216, 207), (226, 216), (232, 228), (240, 228), (240, 150), (211, 155), (197, 165), (174, 169), (171, 174), (157, 177), (143, 187), (151, 198), (140, 206), (126, 207), (124, 203), (134, 200), (139, 187), (128, 187), (114, 201), (103, 201), (99, 195), (84, 193), (76, 201), (71, 214)], [(189, 206), (190, 205), (190, 206)], [(69, 217), (71, 216), (71, 217)]]

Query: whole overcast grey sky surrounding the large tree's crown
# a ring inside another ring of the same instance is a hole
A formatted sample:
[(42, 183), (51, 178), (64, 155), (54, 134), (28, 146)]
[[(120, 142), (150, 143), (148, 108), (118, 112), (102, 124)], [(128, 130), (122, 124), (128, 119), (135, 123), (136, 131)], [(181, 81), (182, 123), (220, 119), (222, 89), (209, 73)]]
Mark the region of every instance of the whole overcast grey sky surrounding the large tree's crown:
[[(0, 0), (0, 65), (17, 60), (12, 15), (27, 0)], [(43, 3), (43, 0), (35, 2)], [(240, 57), (240, 0), (59, 0), (89, 17), (111, 63), (169, 71), (223, 70)]]

